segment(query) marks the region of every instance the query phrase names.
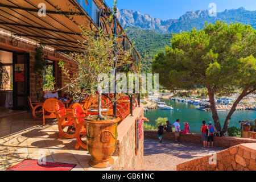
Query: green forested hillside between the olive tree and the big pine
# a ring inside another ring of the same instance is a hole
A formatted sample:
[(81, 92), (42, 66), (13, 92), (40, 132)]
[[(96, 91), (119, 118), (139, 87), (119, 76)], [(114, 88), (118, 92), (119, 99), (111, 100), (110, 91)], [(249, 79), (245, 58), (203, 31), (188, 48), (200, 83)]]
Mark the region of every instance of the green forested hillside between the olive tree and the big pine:
[(144, 73), (151, 72), (151, 64), (154, 55), (164, 51), (166, 46), (171, 45), (171, 34), (159, 34), (152, 30), (144, 30), (141, 28), (127, 27), (127, 35), (135, 48), (141, 53), (141, 70)]

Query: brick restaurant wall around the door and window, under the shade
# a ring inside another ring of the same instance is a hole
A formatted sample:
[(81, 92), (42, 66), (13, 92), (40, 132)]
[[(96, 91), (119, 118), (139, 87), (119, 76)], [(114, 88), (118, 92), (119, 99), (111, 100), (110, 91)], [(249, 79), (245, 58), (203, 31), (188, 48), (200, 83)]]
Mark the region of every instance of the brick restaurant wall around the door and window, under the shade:
[[(9, 35), (0, 34), (0, 48), (14, 51), (14, 52), (27, 52), (30, 53), (30, 97), (32, 101), (37, 100), (36, 92), (40, 92), (40, 95), (42, 95), (42, 88), (36, 87), (36, 81), (35, 81), (35, 72), (34, 72), (34, 65), (35, 65), (35, 55), (36, 55), (36, 44), (32, 42), (29, 42), (30, 39), (25, 40), (18, 40), (17, 46), (11, 46), (11, 37)], [(64, 75), (63, 72), (61, 72), (61, 69), (57, 65), (59, 60), (63, 60), (65, 63), (65, 68), (69, 69), (72, 72), (77, 71), (78, 67), (77, 65), (67, 59), (67, 57), (53, 52), (50, 49), (44, 49), (44, 55), (48, 56), (49, 60), (55, 61), (55, 68), (56, 68), (56, 86), (61, 88), (64, 86), (64, 82), (67, 81), (67, 77)], [(57, 56), (56, 56), (57, 55)], [(40, 79), (40, 81), (43, 81), (43, 77)]]

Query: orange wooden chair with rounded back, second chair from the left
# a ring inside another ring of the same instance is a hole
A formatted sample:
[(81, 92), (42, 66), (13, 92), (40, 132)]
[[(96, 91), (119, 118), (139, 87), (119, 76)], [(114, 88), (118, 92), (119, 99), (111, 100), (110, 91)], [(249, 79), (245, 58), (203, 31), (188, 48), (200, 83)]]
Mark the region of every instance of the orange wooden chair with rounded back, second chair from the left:
[(56, 105), (58, 102), (56, 98), (48, 98), (43, 104), (43, 125), (46, 123), (46, 119), (57, 118), (56, 117)]

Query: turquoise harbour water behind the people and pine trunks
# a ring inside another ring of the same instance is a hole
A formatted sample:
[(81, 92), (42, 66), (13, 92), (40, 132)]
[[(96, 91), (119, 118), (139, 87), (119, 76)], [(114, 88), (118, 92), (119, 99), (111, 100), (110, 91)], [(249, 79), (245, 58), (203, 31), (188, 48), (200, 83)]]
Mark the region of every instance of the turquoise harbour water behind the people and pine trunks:
[[(168, 106), (174, 107), (174, 110), (150, 110), (144, 112), (144, 117), (150, 120), (151, 125), (155, 125), (155, 119), (162, 117), (168, 118), (171, 124), (173, 124), (176, 119), (180, 119), (180, 127), (184, 129), (184, 122), (188, 122), (191, 133), (200, 133), (200, 127), (202, 121), (212, 121), (212, 112), (198, 110), (196, 107), (199, 105), (191, 105), (185, 102), (172, 101), (169, 99), (162, 99), (161, 102), (166, 102)], [(226, 115), (228, 111), (219, 111), (218, 117), (220, 118), (221, 127), (223, 127)], [(229, 127), (236, 126), (240, 127), (238, 121), (244, 121), (246, 119), (252, 120), (256, 119), (256, 111), (254, 110), (236, 110), (232, 115), (232, 119), (229, 123)], [(165, 123), (164, 123), (165, 124)]]

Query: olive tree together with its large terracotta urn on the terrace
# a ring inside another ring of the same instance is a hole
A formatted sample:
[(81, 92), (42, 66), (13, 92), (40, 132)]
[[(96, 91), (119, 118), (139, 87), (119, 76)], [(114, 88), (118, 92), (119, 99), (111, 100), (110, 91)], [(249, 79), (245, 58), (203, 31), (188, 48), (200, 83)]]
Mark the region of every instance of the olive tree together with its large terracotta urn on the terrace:
[[(111, 15), (106, 24), (113, 30), (113, 16)], [(89, 27), (89, 26), (86, 26)], [(117, 125), (120, 120), (115, 115), (104, 115), (101, 111), (101, 85), (98, 84), (98, 76), (102, 73), (109, 74), (111, 69), (119, 65), (131, 64), (129, 51), (123, 51), (118, 44), (118, 36), (112, 31), (106, 35), (101, 28), (87, 30), (80, 25), (84, 42), (79, 42), (81, 52), (70, 52), (68, 56), (78, 66), (78, 71), (71, 75), (65, 68), (63, 61), (59, 65), (68, 77), (65, 82), (66, 92), (72, 95), (74, 101), (84, 100), (84, 96), (96, 96), (98, 98), (98, 115), (92, 115), (85, 119), (86, 143), (89, 154), (92, 155), (90, 166), (106, 168), (113, 164), (111, 157), (117, 144)], [(95, 27), (94, 27), (95, 28)], [(97, 36), (96, 36), (97, 35)]]

